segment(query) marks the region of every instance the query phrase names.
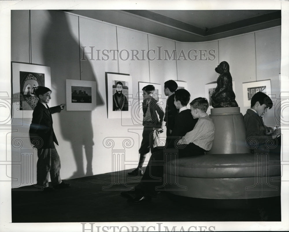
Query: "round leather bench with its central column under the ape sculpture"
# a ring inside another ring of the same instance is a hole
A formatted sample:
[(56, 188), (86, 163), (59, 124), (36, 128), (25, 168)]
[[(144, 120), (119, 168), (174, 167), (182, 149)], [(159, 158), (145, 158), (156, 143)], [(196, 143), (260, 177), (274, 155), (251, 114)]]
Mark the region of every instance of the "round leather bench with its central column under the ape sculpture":
[(206, 199), (280, 196), (280, 155), (251, 152), (246, 146), (240, 108), (215, 108), (210, 117), (215, 124), (212, 149), (205, 155), (192, 154), (167, 163), (166, 178), (170, 181), (166, 190), (179, 196)]

